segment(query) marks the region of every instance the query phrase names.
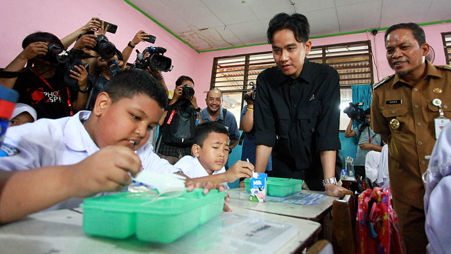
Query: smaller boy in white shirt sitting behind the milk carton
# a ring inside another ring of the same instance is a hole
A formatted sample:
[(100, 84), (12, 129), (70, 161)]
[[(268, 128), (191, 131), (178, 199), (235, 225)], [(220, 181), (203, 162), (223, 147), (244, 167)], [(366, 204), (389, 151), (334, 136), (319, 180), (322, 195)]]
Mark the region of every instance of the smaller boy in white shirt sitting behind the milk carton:
[(225, 163), (229, 158), (229, 131), (217, 122), (205, 122), (194, 129), (194, 144), (191, 147), (193, 156), (182, 157), (174, 167), (195, 180), (209, 180), (222, 183), (229, 189), (228, 182), (241, 177), (252, 177), (254, 165), (247, 161), (238, 161), (225, 171)]

